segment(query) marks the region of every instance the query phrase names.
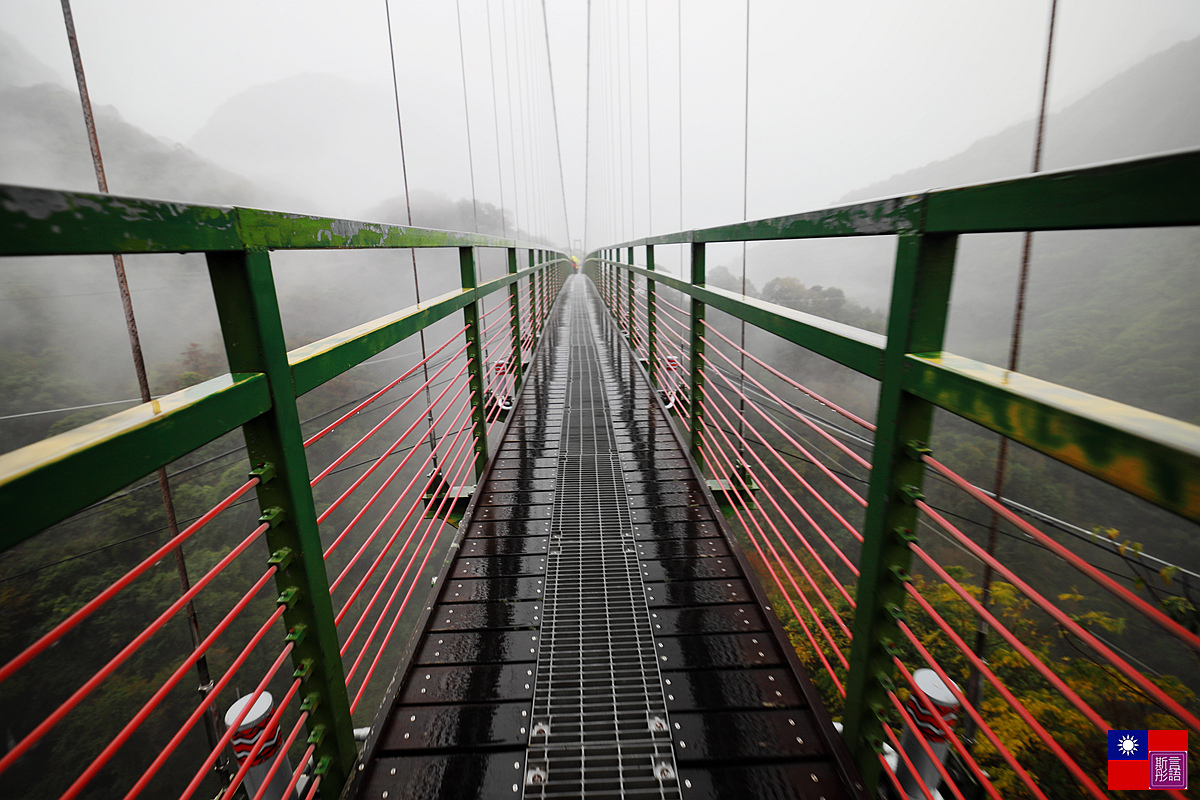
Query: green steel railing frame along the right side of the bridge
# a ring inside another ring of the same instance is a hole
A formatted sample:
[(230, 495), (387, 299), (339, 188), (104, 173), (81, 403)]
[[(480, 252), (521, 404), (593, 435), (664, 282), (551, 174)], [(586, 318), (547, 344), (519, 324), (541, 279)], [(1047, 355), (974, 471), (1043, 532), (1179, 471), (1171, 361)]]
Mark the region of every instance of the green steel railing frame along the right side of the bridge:
[[(1200, 427), (943, 350), (955, 252), (964, 234), (1200, 224), (1200, 151), (1043, 173), (809, 213), (649, 236), (592, 253), (584, 272), (634, 335), (634, 281), (647, 289), (649, 368), (656, 367), (655, 288), (690, 297), (690, 431), (702, 464), (704, 313), (712, 307), (880, 381), (863, 548), (854, 590), (845, 738), (869, 786), (880, 781), (883, 716), (895, 668), (925, 474), (924, 443), (944, 409), (1200, 522)], [(887, 336), (742, 296), (706, 281), (706, 246), (895, 235)], [(690, 279), (655, 270), (655, 246), (690, 249)], [(646, 266), (634, 264), (634, 251)], [(622, 254), (626, 258), (622, 259)], [(642, 335), (642, 333), (637, 333)], [(652, 372), (652, 374), (654, 374)], [(661, 375), (660, 378), (660, 387)]]

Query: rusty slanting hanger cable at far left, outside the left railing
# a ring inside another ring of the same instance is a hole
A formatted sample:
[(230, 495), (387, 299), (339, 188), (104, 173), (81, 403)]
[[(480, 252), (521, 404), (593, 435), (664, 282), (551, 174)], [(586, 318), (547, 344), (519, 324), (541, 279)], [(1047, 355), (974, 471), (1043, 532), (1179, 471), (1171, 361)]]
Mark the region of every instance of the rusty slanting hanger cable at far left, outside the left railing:
[[(71, 0), (62, 0), (62, 22), (66, 25), (67, 43), (71, 47), (71, 60), (74, 65), (76, 83), (79, 85), (79, 103), (83, 107), (84, 126), (88, 130), (88, 146), (91, 150), (91, 163), (96, 173), (96, 186), (103, 194), (108, 194), (108, 176), (104, 174), (104, 160), (100, 152), (100, 137), (96, 133), (96, 120), (91, 112), (91, 97), (88, 94), (88, 80), (83, 71), (83, 55), (79, 52), (79, 38), (76, 35), (74, 16), (71, 13)], [(146, 377), (145, 357), (142, 354), (142, 338), (138, 335), (138, 321), (133, 315), (133, 297), (130, 295), (130, 282), (125, 273), (125, 259), (120, 253), (113, 253), (113, 270), (116, 273), (116, 287), (121, 296), (121, 308), (125, 312), (125, 327), (130, 337), (130, 351), (133, 356), (133, 372), (137, 374), (138, 389), (142, 402), (149, 403), (154, 398), (150, 393), (150, 380)], [(175, 516), (175, 501), (170, 492), (170, 480), (167, 476), (167, 468), (160, 467), (156, 471), (158, 481), (158, 493), (162, 498), (163, 513), (167, 517), (168, 539), (179, 536), (179, 522)], [(182, 594), (191, 589), (191, 581), (187, 577), (187, 561), (184, 558), (184, 546), (179, 545), (173, 551), (175, 559), (175, 575), (179, 578), (179, 588)], [(188, 601), (185, 606), (187, 618), (187, 632), (191, 637), (192, 649), (198, 650), (203, 637), (200, 636), (200, 622), (196, 614), (196, 603)], [(196, 674), (199, 679), (199, 693), (206, 697), (212, 688), (212, 676), (209, 673), (208, 656), (202, 655), (196, 661)], [(204, 715), (204, 732), (210, 748), (216, 748), (221, 738), (221, 722), (216, 710), (210, 705)], [(216, 771), (223, 777), (232, 774), (228, 759), (222, 754), (215, 764)]]

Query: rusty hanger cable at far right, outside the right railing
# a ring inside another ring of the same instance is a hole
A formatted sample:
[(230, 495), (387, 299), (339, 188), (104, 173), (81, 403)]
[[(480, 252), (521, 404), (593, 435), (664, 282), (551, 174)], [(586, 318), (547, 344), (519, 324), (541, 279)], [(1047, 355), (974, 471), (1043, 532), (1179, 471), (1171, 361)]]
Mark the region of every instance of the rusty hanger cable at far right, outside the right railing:
[[(1050, 0), (1050, 28), (1046, 32), (1046, 58), (1045, 68), (1042, 72), (1042, 102), (1038, 107), (1038, 126), (1037, 134), (1033, 140), (1033, 164), (1030, 172), (1039, 173), (1042, 172), (1042, 142), (1045, 133), (1046, 122), (1046, 100), (1050, 95), (1050, 65), (1054, 55), (1054, 31), (1055, 31), (1055, 19), (1058, 11), (1058, 0)], [(1016, 372), (1016, 367), (1020, 361), (1021, 354), (1021, 331), (1025, 324), (1025, 296), (1028, 289), (1030, 278), (1030, 253), (1033, 248), (1033, 234), (1028, 230), (1021, 240), (1021, 266), (1016, 283), (1016, 305), (1013, 309), (1013, 333), (1008, 351), (1008, 369), (1009, 372)], [(1000, 438), (1000, 447), (996, 453), (996, 476), (992, 481), (992, 492), (997, 500), (1004, 491), (1004, 479), (1008, 470), (1008, 438)], [(994, 555), (996, 552), (996, 537), (1000, 529), (1000, 515), (992, 511), (991, 519), (988, 525), (988, 555)], [(984, 564), (983, 567), (983, 579), (980, 602), (984, 608), (990, 606), (991, 601), (991, 583), (992, 583), (992, 567), (990, 564)], [(986, 620), (979, 620), (979, 628), (976, 632), (974, 640), (974, 652), (983, 657), (988, 649), (988, 622)], [(967, 697), (971, 703), (979, 708), (979, 703), (983, 700), (983, 680), (979, 672), (976, 669), (971, 670), (967, 678)], [(973, 720), (970, 717), (966, 721), (966, 735), (967, 739), (972, 739), (974, 733)]]

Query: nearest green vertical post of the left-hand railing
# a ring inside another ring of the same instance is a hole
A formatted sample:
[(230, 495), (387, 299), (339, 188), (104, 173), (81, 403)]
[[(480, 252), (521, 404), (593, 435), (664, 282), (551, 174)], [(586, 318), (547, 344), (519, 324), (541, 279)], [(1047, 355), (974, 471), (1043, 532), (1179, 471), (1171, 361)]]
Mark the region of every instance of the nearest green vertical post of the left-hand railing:
[(328, 765), (324, 782), (336, 794), (358, 748), (271, 260), (266, 251), (238, 251), (209, 253), (208, 264), (229, 371), (263, 373), (270, 387), (271, 409), (242, 432), (263, 481), (256, 491), (262, 518), (271, 522), (266, 543), (280, 564), (275, 583), (288, 606), (283, 622), (295, 643), (301, 703), (310, 710), (308, 741), (316, 744), (314, 762)]

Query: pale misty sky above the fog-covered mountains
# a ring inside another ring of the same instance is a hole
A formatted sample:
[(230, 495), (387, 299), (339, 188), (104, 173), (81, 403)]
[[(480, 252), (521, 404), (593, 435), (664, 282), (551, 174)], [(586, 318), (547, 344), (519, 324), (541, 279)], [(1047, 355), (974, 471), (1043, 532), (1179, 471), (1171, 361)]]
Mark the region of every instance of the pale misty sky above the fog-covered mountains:
[[(510, 210), (524, 201), (522, 227), (568, 243), (541, 2), (460, 0), (458, 7), (476, 196), (499, 205), (503, 192)], [(652, 216), (655, 233), (742, 218), (746, 4), (593, 0), (590, 7), (589, 143), (588, 4), (546, 0), (570, 237), (583, 237), (586, 180), (590, 246), (646, 235)], [(402, 192), (383, 0), (74, 0), (73, 8), (95, 104), (188, 144), (246, 90), (332, 76), (361, 91), (320, 84), (271, 121), (281, 142), (289, 127), (319, 132), (334, 118), (378, 133), (336, 169), (298, 167), (299, 194), (319, 199), (294, 210), (360, 216)], [(751, 0), (749, 217), (832, 204), (1033, 116), (1049, 8), (1049, 0)], [(456, 4), (392, 0), (391, 14), (412, 185), (470, 197)], [(0, 0), (0, 28), (73, 86), (58, 1)], [(1061, 0), (1051, 107), (1196, 35), (1195, 0)], [(274, 134), (259, 126), (254, 136)], [(236, 144), (238, 132), (227, 139)]]

